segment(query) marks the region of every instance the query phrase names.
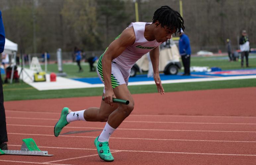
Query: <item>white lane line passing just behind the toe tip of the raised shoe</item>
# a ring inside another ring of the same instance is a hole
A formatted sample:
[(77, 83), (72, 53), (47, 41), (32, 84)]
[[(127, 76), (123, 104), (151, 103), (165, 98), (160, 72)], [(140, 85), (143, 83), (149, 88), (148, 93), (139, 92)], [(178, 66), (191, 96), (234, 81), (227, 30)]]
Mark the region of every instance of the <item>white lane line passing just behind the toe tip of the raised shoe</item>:
[[(47, 134), (25, 134), (25, 133), (8, 133), (8, 134), (14, 134), (14, 135), (35, 135), (35, 136), (53, 136), (53, 135), (47, 135)], [(59, 137), (95, 138), (94, 136), (71, 136), (71, 135), (60, 135)], [(186, 139), (116, 138), (116, 137), (111, 137), (111, 139), (256, 143), (256, 141), (227, 141), (227, 140), (226, 141), (225, 140), (186, 140)]]

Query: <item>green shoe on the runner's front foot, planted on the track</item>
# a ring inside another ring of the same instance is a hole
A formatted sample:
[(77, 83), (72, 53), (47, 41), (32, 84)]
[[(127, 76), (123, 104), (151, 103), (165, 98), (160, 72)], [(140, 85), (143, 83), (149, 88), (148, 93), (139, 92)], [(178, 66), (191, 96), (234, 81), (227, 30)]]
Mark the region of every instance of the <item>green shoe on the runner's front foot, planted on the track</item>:
[(98, 137), (94, 140), (94, 145), (97, 148), (97, 152), (99, 154), (100, 159), (107, 161), (107, 162), (112, 162), (114, 161), (114, 158), (110, 152), (110, 149), (108, 147), (108, 142), (99, 142)]

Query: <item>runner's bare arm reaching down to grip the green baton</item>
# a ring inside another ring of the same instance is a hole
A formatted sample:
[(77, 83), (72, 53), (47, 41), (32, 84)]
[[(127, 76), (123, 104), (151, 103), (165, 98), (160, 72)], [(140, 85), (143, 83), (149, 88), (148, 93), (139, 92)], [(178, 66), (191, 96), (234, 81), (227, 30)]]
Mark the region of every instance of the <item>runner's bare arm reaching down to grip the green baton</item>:
[(114, 40), (106, 50), (102, 57), (102, 71), (105, 85), (105, 102), (110, 106), (113, 105), (113, 97), (115, 97), (111, 84), (111, 62), (118, 57), (126, 47), (133, 45), (135, 42), (135, 33), (133, 28), (125, 29), (121, 36)]

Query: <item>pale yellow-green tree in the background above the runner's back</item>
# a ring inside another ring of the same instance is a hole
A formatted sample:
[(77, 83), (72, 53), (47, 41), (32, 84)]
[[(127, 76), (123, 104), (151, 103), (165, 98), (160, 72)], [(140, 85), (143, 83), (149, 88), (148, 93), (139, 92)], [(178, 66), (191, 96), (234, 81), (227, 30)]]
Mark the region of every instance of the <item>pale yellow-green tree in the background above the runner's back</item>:
[[(61, 10), (66, 26), (67, 39), (79, 48), (86, 50), (99, 49), (96, 3), (91, 0), (65, 0)], [(82, 41), (82, 43), (81, 43)]]

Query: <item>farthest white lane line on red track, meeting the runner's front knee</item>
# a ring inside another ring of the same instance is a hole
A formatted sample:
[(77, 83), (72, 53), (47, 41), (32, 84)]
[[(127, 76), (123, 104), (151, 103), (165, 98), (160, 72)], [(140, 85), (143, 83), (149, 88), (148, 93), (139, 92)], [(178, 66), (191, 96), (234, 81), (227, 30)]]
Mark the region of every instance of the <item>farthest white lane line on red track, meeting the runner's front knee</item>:
[[(36, 113), (36, 114), (58, 114), (60, 112), (34, 112), (34, 111), (15, 111), (15, 110), (5, 110), (5, 112), (18, 112), (18, 113)], [(255, 118), (256, 116), (204, 116), (204, 115), (140, 115), (140, 114), (131, 114), (129, 116), (158, 116), (158, 117), (227, 117), (227, 118)]]

